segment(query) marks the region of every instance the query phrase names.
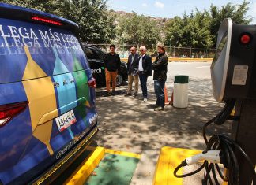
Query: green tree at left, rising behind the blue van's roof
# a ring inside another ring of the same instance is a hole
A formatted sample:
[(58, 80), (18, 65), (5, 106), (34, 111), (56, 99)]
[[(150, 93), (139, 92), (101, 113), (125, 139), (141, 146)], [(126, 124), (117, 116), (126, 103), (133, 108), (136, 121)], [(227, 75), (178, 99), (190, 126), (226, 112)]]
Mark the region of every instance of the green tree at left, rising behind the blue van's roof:
[(73, 20), (79, 35), (88, 43), (108, 43), (115, 38), (115, 24), (108, 17), (105, 0), (2, 0), (16, 6), (37, 9)]

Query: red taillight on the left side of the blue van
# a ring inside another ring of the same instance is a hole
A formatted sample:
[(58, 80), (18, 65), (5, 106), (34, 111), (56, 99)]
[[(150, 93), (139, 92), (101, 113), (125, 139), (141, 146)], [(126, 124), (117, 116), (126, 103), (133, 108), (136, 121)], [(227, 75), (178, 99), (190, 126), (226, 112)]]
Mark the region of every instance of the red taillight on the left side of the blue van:
[(27, 106), (28, 102), (0, 105), (0, 127), (21, 113), (24, 109), (26, 109)]

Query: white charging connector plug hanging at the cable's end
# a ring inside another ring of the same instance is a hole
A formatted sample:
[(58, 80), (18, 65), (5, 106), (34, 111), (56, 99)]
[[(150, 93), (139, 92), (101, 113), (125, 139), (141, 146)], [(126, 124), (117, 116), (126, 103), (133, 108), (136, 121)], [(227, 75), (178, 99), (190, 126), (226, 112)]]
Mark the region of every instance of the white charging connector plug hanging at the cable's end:
[(206, 160), (210, 163), (220, 163), (220, 150), (203, 151), (201, 154), (197, 154), (185, 159), (186, 165), (193, 165), (201, 160)]

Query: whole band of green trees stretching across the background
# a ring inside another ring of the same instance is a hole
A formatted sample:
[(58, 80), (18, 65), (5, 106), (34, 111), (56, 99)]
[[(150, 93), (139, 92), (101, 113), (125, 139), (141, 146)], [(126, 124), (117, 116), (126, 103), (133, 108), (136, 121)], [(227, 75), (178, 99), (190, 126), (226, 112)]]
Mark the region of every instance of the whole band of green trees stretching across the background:
[[(79, 24), (82, 41), (88, 43), (156, 45), (210, 48), (216, 46), (217, 31), (226, 17), (239, 24), (249, 24), (246, 17), (250, 2), (228, 3), (221, 8), (211, 5), (209, 11), (192, 11), (190, 15), (166, 20), (107, 10), (107, 0), (2, 0), (9, 4), (38, 9), (65, 17)], [(162, 22), (160, 22), (162, 21)], [(162, 42), (161, 42), (162, 43)]]

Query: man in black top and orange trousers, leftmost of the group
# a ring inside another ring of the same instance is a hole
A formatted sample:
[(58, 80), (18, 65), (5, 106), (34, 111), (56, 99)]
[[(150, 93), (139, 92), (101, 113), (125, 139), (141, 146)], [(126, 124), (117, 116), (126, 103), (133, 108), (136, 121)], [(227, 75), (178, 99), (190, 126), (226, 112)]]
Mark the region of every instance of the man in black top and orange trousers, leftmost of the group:
[[(120, 60), (119, 54), (115, 53), (115, 45), (111, 44), (109, 48), (110, 48), (110, 52), (106, 54), (106, 57), (104, 57), (106, 88), (107, 88), (108, 95), (115, 95), (116, 76), (118, 74), (118, 70), (121, 65), (121, 60)], [(112, 81), (112, 92), (110, 91), (111, 81)]]

